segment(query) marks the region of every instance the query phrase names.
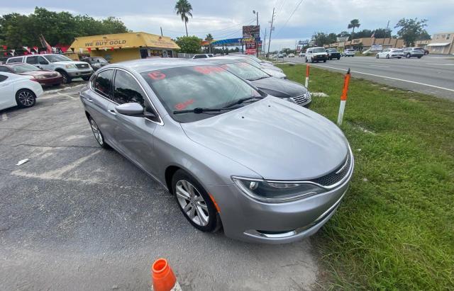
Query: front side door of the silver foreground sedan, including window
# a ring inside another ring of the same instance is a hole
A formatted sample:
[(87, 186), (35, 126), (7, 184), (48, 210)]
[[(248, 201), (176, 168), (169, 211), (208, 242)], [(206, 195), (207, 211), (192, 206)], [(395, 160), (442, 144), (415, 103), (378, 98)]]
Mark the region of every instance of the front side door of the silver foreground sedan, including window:
[[(139, 103), (148, 112), (155, 113), (143, 87), (131, 73), (123, 69), (116, 69), (113, 99), (118, 104)], [(153, 133), (159, 126), (157, 114), (155, 113), (156, 118), (127, 116), (118, 113), (114, 107), (111, 106), (109, 110), (116, 115), (114, 138), (118, 142), (118, 147), (145, 171), (156, 175), (157, 159), (153, 149)]]

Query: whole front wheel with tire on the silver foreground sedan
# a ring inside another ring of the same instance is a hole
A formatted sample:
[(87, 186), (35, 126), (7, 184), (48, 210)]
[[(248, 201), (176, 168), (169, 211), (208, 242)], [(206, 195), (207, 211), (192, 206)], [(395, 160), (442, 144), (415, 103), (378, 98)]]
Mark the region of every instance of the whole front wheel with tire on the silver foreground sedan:
[(175, 194), (179, 210), (193, 227), (202, 232), (216, 232), (221, 227), (221, 219), (209, 194), (187, 172), (175, 172), (172, 193)]

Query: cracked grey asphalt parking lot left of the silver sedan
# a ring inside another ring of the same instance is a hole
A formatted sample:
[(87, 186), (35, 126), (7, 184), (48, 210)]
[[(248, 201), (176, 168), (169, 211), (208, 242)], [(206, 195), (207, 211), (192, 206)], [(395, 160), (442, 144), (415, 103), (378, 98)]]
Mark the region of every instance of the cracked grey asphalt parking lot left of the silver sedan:
[(146, 290), (159, 257), (183, 290), (315, 286), (314, 239), (245, 244), (194, 229), (170, 193), (98, 146), (82, 86), (0, 111), (0, 290)]

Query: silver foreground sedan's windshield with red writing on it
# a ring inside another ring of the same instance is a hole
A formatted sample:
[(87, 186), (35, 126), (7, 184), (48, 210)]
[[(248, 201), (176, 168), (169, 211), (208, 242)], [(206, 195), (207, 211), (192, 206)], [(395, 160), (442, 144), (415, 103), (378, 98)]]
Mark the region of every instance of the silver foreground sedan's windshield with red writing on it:
[(174, 114), (175, 110), (222, 108), (241, 98), (261, 97), (252, 86), (218, 66), (162, 69), (142, 73), (142, 76), (178, 122), (193, 122), (226, 111)]

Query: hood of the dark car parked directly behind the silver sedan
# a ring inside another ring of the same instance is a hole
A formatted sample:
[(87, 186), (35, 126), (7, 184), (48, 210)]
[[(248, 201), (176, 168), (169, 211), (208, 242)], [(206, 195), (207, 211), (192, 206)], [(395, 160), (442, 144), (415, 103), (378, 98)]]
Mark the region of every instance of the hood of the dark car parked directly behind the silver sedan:
[(306, 88), (301, 84), (273, 76), (250, 82), (257, 88), (262, 89), (262, 91), (279, 98), (297, 97), (307, 93)]

